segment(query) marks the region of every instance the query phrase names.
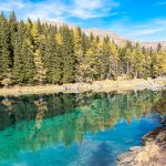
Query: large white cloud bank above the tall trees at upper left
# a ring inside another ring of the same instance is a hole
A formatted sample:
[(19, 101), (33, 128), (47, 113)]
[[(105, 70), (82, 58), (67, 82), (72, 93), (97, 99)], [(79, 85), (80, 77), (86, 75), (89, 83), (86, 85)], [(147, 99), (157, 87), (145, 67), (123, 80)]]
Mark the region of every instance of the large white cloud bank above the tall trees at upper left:
[(2, 0), (0, 11), (14, 10), (21, 19), (30, 17), (32, 19), (69, 19), (77, 18), (82, 20), (102, 18), (112, 14), (112, 9), (118, 7), (114, 0), (45, 0), (45, 1), (23, 1)]

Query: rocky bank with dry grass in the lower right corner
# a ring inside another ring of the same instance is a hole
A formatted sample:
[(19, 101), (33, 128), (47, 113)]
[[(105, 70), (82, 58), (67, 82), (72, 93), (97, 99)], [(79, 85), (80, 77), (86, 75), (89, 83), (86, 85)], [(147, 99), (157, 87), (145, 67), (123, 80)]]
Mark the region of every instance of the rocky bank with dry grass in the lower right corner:
[(117, 166), (164, 166), (166, 165), (166, 118), (162, 126), (142, 138), (143, 146), (135, 146), (117, 157)]

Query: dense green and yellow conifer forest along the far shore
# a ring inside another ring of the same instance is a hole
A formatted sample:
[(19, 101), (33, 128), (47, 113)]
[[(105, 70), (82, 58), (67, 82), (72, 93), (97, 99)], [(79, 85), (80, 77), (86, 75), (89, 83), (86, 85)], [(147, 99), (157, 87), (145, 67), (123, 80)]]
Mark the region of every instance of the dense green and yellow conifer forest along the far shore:
[(166, 74), (166, 50), (116, 45), (108, 37), (86, 35), (81, 28), (60, 28), (40, 20), (18, 21), (0, 14), (0, 85), (65, 84), (118, 76)]

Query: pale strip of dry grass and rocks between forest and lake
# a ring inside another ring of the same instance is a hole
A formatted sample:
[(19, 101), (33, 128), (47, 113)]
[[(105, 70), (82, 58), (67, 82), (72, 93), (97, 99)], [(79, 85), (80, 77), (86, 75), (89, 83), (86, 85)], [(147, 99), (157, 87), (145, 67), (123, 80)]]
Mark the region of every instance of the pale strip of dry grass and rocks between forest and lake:
[(166, 85), (166, 77), (159, 79), (135, 79), (135, 80), (105, 80), (95, 81), (92, 84), (74, 83), (63, 85), (38, 85), (38, 86), (12, 86), (0, 89), (0, 96), (19, 96), (31, 94), (53, 93), (84, 93), (84, 92), (125, 92), (129, 90), (158, 90)]

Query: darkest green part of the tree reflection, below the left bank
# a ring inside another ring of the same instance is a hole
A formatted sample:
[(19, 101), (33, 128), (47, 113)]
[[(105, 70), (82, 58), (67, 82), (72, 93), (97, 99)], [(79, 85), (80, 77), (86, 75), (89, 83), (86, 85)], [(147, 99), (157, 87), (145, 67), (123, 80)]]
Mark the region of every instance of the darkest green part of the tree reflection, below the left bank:
[[(74, 108), (73, 102), (73, 95), (65, 96), (62, 94), (8, 97), (8, 102), (7, 98), (0, 97), (0, 131), (13, 124), (9, 121), (10, 112), (12, 112), (15, 117), (14, 124), (18, 124), (21, 121), (40, 118), (39, 116), (52, 117), (71, 112)], [(48, 111), (45, 111), (46, 108), (44, 107), (48, 107)]]

